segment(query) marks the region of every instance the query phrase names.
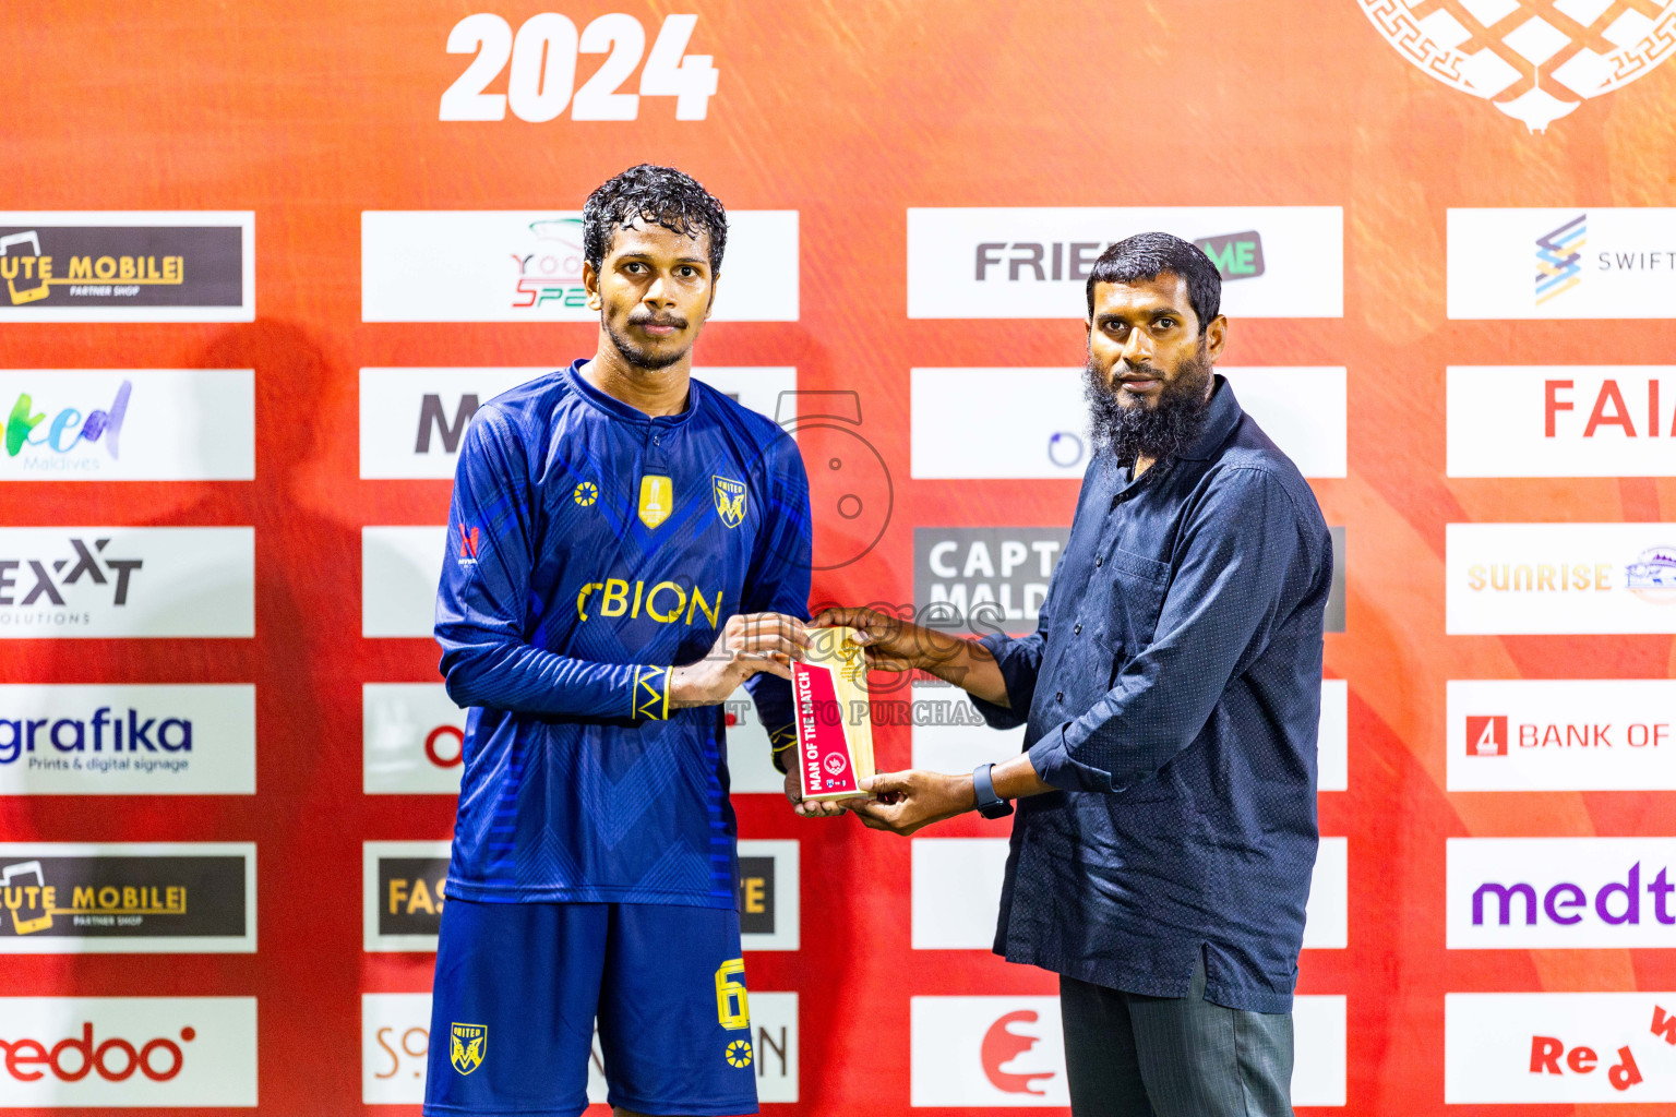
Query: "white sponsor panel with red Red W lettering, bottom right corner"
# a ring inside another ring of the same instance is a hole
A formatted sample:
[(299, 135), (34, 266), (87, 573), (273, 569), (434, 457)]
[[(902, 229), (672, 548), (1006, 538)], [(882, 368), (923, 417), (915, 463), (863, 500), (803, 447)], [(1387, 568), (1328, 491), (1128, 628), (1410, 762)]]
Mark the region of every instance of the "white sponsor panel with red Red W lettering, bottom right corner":
[(1673, 1013), (1676, 993), (1446, 993), (1443, 1100), (1676, 1102)]

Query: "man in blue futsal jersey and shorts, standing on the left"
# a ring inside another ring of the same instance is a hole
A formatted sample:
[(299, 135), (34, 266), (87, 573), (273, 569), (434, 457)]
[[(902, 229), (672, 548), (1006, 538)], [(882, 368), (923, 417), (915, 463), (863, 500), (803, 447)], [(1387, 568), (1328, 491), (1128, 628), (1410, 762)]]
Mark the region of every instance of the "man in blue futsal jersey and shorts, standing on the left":
[(582, 1114), (595, 1018), (618, 1114), (756, 1112), (719, 703), (744, 683), (793, 739), (811, 544), (791, 437), (691, 378), (726, 239), (680, 171), (600, 186), (593, 357), (466, 432), (436, 638), (471, 713), (426, 1114)]

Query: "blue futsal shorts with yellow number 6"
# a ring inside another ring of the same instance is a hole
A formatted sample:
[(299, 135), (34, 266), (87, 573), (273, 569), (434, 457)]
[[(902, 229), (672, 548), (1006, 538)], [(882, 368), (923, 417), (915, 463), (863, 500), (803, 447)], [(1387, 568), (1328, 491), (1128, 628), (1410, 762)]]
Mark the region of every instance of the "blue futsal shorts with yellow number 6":
[(608, 1102), (754, 1114), (739, 914), (449, 899), (424, 1112), (578, 1117), (598, 1020)]

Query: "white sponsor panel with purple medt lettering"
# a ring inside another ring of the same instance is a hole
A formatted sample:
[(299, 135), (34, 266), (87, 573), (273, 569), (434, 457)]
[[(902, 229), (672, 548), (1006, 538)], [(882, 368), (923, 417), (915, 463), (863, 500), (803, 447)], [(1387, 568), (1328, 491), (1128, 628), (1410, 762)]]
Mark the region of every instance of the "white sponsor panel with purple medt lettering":
[(1450, 950), (1676, 946), (1676, 837), (1451, 837)]

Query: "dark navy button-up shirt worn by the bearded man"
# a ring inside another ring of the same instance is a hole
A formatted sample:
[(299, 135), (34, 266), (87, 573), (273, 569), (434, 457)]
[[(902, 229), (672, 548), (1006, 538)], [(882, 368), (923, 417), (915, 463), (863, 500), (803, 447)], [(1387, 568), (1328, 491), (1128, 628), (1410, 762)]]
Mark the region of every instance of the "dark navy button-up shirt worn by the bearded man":
[(1036, 633), (989, 636), (1026, 750), (996, 953), (1130, 993), (1287, 1011), (1316, 862), (1332, 541), (1217, 377), (1200, 437), (1089, 466)]

